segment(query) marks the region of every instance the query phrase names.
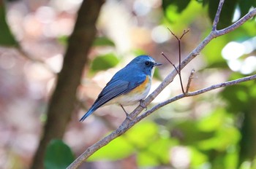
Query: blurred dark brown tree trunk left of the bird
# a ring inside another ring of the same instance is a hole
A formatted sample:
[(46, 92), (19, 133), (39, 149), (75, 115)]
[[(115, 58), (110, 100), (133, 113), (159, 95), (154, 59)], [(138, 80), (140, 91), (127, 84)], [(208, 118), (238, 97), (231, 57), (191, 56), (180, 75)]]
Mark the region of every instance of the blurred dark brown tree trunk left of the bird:
[(94, 36), (95, 23), (104, 0), (83, 1), (78, 11), (75, 28), (69, 37), (64, 63), (56, 82), (56, 89), (48, 106), (48, 119), (31, 168), (43, 168), (45, 148), (53, 138), (62, 138), (76, 101), (83, 67), (86, 65)]

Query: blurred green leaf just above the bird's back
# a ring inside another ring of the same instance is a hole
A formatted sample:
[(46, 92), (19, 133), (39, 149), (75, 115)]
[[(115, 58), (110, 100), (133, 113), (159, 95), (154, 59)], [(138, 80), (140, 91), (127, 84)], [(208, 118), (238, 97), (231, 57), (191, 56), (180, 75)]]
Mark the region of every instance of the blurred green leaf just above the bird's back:
[(92, 71), (102, 71), (108, 68), (113, 68), (119, 63), (118, 58), (113, 53), (106, 55), (98, 55), (91, 63)]

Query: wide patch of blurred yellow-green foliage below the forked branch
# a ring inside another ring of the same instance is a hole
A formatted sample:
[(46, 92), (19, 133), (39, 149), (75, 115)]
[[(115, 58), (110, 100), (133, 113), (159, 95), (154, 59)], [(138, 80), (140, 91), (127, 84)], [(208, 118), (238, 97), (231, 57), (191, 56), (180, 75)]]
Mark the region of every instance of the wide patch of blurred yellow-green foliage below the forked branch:
[[(170, 149), (183, 145), (191, 154), (192, 168), (198, 168), (207, 162), (216, 162), (212, 164), (213, 168), (237, 167), (237, 144), (241, 135), (234, 126), (233, 115), (225, 109), (216, 109), (202, 119), (178, 120), (173, 123), (170, 129), (167, 124), (141, 122), (99, 149), (89, 161), (121, 160), (136, 152), (138, 165), (141, 167), (169, 165)], [(178, 131), (183, 136), (172, 135), (173, 131)]]

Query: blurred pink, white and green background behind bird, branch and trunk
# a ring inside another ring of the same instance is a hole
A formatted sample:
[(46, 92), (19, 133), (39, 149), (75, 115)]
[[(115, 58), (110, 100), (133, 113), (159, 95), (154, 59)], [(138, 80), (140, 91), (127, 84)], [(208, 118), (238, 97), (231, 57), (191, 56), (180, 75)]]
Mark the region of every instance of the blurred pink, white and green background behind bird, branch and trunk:
[[(32, 163), (81, 3), (82, 0), (0, 1), (0, 168), (29, 168)], [(52, 143), (65, 147), (67, 153), (72, 151), (67, 163), (124, 120), (121, 108), (113, 105), (78, 122), (111, 76), (136, 55), (151, 55), (163, 63), (155, 72), (154, 90), (173, 70), (161, 52), (178, 65), (178, 42), (167, 28), (177, 36), (189, 28), (181, 41), (184, 58), (211, 31), (218, 3), (105, 2), (64, 142)], [(236, 22), (253, 6), (255, 0), (225, 1), (219, 28)], [(214, 39), (181, 72), (184, 86), (192, 68), (195, 78), (191, 91), (255, 74), (255, 28), (254, 17)], [(181, 84), (176, 78), (148, 109), (180, 93)], [(184, 98), (154, 112), (80, 168), (256, 168), (255, 105), (255, 80)], [(127, 107), (127, 111), (133, 109), (135, 106)], [(45, 159), (45, 168), (53, 168), (57, 161), (50, 156)]]

